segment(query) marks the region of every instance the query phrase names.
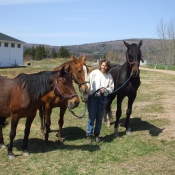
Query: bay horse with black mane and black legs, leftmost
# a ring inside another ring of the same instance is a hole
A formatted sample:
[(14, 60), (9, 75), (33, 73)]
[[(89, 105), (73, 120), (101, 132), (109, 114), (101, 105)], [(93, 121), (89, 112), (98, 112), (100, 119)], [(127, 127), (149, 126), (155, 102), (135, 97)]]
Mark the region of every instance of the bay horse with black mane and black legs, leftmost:
[(0, 148), (6, 148), (2, 127), (6, 118), (11, 117), (10, 142), (7, 148), (10, 159), (14, 158), (13, 140), (19, 119), (23, 117), (26, 117), (26, 123), (22, 149), (24, 156), (29, 155), (27, 147), (30, 127), (44, 95), (50, 91), (59, 96), (62, 94), (62, 97), (66, 94), (69, 98), (65, 97), (65, 103), (70, 108), (79, 102), (68, 71), (69, 68), (66, 71), (62, 67), (60, 71), (42, 71), (29, 75), (21, 73), (14, 79), (0, 77)]

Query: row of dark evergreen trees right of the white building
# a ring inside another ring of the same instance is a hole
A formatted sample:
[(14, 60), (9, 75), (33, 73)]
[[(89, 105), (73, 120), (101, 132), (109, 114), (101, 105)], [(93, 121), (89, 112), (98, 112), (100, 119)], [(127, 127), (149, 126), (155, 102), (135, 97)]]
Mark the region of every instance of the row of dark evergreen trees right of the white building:
[(23, 56), (25, 60), (42, 60), (46, 58), (69, 58), (70, 53), (64, 46), (57, 51), (55, 48), (49, 49), (44, 45), (39, 45), (37, 47), (32, 46), (32, 48), (27, 48)]

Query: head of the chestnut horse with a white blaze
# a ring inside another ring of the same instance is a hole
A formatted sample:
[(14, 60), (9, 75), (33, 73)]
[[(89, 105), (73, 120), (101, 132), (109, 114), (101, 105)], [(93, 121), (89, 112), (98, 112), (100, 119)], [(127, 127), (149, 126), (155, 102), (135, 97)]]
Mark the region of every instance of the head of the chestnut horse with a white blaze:
[[(77, 59), (73, 55), (73, 61), (75, 63), (74, 73), (73, 73), (73, 79), (75, 83), (79, 85), (79, 89), (81, 92), (85, 92), (88, 88), (87, 86), (87, 69), (85, 69), (86, 66), (86, 55), (83, 55), (81, 59)], [(87, 66), (86, 66), (87, 67)]]

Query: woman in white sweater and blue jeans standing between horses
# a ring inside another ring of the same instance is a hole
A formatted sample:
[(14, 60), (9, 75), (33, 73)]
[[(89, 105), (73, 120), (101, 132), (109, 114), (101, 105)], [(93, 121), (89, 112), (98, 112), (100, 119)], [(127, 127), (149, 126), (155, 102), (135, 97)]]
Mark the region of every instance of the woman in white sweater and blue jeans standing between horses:
[(99, 69), (93, 70), (88, 76), (89, 87), (84, 99), (89, 113), (86, 128), (88, 145), (92, 144), (93, 134), (96, 137), (96, 142), (100, 142), (99, 135), (106, 107), (105, 102), (108, 100), (108, 93), (114, 90), (114, 81), (108, 72), (109, 69), (110, 62), (107, 59), (102, 59), (99, 62)]

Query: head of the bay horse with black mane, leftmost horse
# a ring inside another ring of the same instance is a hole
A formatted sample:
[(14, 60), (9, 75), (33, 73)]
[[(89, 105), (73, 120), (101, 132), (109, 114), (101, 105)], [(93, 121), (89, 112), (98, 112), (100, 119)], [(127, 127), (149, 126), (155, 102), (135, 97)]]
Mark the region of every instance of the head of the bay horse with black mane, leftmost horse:
[(57, 85), (54, 88), (54, 94), (61, 97), (70, 109), (76, 108), (80, 100), (72, 84), (72, 78), (69, 74), (70, 67), (64, 66), (59, 71)]

